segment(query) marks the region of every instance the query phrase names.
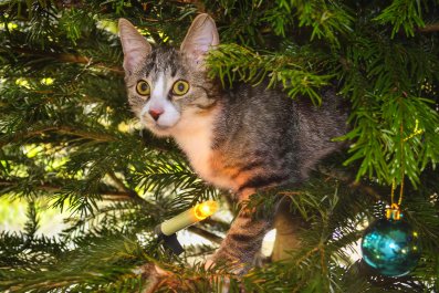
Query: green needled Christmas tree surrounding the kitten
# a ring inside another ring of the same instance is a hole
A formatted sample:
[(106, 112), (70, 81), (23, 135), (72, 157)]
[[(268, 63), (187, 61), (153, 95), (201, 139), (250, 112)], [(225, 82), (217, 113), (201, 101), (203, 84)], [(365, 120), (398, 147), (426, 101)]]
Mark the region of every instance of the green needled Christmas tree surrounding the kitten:
[[(0, 290), (438, 291), (438, 4), (1, 1), (0, 219), (18, 200), (27, 214), (20, 231), (0, 222)], [(232, 195), (199, 179), (173, 140), (142, 129), (126, 101), (118, 19), (156, 45), (177, 46), (201, 12), (219, 29), (208, 66), (222, 86), (268, 81), (315, 105), (330, 86), (349, 105), (351, 130), (334, 138), (346, 147), (299, 188), (279, 191), (288, 205), (273, 252), (243, 276), (202, 261), (239, 209)], [(229, 218), (189, 227), (178, 257), (157, 241), (159, 223), (209, 199)], [(421, 251), (397, 278), (355, 257), (366, 227), (391, 202)], [(46, 210), (65, 216), (55, 236), (40, 231)]]

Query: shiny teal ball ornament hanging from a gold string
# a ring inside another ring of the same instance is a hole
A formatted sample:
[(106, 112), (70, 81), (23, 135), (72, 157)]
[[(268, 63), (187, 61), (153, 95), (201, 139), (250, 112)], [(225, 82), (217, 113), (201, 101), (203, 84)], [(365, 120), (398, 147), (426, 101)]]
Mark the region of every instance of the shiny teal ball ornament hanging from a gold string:
[(387, 276), (408, 274), (418, 263), (418, 233), (405, 221), (380, 219), (369, 226), (362, 239), (364, 261)]

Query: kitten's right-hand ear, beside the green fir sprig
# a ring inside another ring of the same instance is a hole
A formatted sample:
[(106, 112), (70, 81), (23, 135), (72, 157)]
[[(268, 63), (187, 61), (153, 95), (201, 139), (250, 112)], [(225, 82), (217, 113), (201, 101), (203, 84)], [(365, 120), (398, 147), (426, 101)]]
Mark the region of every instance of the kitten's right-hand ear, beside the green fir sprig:
[(197, 64), (201, 64), (207, 51), (219, 44), (217, 25), (211, 17), (199, 14), (190, 25), (180, 50)]

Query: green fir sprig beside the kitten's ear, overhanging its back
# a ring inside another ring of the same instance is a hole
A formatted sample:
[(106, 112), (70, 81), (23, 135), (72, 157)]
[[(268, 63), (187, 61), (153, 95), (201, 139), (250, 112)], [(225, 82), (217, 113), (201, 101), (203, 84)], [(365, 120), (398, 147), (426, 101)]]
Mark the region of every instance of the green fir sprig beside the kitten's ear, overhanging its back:
[[(282, 54), (264, 55), (236, 44), (220, 45), (209, 55), (208, 62), (211, 76), (218, 75), (224, 86), (232, 86), (232, 81), (252, 84), (268, 81), (268, 87), (281, 84), (291, 97), (307, 96), (314, 104), (322, 102), (318, 88), (334, 77), (317, 74), (318, 65), (324, 63), (323, 56), (293, 44), (286, 46)], [(227, 85), (226, 80), (229, 81)]]

